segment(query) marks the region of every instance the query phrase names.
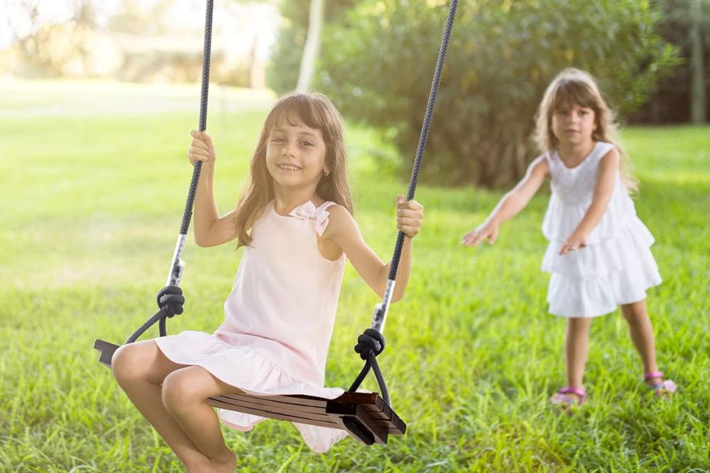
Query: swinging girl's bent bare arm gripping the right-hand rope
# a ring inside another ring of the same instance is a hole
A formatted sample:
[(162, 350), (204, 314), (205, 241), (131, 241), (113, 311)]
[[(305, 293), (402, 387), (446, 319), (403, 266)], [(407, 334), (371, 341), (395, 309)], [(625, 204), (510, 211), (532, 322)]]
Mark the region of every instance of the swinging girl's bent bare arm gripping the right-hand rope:
[[(423, 207), (417, 201), (398, 199), (397, 228), (402, 230), (406, 236), (395, 279), (395, 289), (392, 295), (393, 302), (402, 299), (405, 293), (412, 267), (412, 239), (419, 232), (423, 217)], [(354, 218), (345, 208), (340, 206), (332, 207), (330, 222), (323, 234), (323, 238), (327, 238), (338, 245), (368, 286), (378, 296), (384, 296), (391, 262), (385, 264), (368, 247)]]

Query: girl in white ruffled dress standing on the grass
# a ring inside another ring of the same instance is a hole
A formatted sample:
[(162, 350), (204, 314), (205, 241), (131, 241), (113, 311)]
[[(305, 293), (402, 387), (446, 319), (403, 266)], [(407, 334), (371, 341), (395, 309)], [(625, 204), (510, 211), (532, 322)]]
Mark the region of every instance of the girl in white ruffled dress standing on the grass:
[(486, 221), (463, 238), (466, 246), (484, 240), (492, 245), (498, 226), (525, 208), (545, 178), (551, 178), (552, 195), (542, 222), (550, 245), (542, 269), (551, 273), (550, 313), (567, 318), (567, 386), (550, 399), (562, 408), (580, 405), (586, 397), (582, 377), (591, 318), (616, 311), (617, 305), (641, 356), (645, 382), (658, 396), (675, 391), (656, 365), (646, 311), (646, 289), (661, 282), (649, 249), (654, 240), (629, 196), (637, 188), (628, 157), (613, 138), (615, 128), (589, 74), (578, 69), (558, 74), (537, 114), (542, 155)]

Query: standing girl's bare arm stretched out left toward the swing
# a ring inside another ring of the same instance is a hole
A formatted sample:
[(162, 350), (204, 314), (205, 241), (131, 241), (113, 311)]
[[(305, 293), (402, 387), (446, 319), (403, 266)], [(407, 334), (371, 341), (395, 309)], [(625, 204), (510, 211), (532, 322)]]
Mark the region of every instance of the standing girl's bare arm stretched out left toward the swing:
[(528, 166), (528, 171), (525, 172), (525, 177), (520, 179), (520, 182), (503, 196), (486, 221), (464, 235), (462, 240), (464, 246), (478, 246), (486, 239), (488, 239), (488, 243), (493, 245), (498, 236), (498, 226), (513, 218), (528, 205), (537, 189), (540, 189), (542, 182), (545, 182), (545, 177), (549, 172), (550, 167), (544, 156), (539, 156), (532, 161)]

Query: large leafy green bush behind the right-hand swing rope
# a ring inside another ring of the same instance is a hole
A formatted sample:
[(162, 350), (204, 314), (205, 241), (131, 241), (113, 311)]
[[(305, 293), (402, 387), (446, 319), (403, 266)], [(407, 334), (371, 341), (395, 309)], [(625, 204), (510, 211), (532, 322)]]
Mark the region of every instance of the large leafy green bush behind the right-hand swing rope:
[[(417, 147), (447, 1), (364, 0), (329, 28), (322, 89), (348, 118), (392, 133), (406, 170)], [(528, 137), (564, 67), (599, 77), (621, 113), (643, 104), (676, 51), (648, 2), (459, 4), (423, 168), (429, 182), (509, 185), (535, 152)]]

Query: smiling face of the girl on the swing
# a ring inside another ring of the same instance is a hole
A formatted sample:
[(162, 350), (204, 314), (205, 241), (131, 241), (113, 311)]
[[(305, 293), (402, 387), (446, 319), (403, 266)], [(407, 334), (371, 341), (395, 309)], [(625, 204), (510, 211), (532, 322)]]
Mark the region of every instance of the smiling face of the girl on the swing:
[[(295, 124), (292, 124), (295, 123)], [(312, 186), (314, 191), (327, 170), (326, 145), (321, 130), (299, 122), (279, 120), (268, 136), (266, 168), (274, 184)]]

